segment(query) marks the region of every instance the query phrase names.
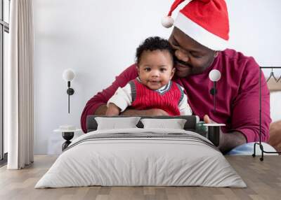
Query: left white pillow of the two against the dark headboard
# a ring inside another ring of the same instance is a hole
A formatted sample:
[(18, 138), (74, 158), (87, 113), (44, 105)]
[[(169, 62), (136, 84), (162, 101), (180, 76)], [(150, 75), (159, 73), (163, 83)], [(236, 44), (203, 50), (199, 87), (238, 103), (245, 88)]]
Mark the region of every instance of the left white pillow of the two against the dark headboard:
[(140, 119), (141, 117), (95, 117), (97, 130), (137, 128), (136, 124)]

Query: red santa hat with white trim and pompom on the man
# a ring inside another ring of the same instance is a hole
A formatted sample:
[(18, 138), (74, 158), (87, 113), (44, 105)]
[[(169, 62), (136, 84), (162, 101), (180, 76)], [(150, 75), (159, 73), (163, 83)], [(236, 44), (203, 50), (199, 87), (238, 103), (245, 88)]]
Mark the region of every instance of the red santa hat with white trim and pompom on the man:
[(224, 0), (189, 0), (174, 22), (171, 13), (184, 0), (174, 1), (168, 16), (162, 19), (166, 28), (173, 24), (198, 43), (211, 50), (225, 50), (228, 43), (228, 9)]

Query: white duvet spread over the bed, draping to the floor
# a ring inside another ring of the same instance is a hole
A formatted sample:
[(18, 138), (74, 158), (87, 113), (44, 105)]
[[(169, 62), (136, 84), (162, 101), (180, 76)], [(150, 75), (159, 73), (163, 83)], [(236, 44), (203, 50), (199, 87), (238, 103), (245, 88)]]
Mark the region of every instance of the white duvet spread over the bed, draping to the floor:
[[(127, 134), (121, 138), (97, 138), (122, 133)], [(210, 143), (199, 134), (178, 129), (93, 131), (72, 141), (35, 188), (89, 185), (247, 187)]]

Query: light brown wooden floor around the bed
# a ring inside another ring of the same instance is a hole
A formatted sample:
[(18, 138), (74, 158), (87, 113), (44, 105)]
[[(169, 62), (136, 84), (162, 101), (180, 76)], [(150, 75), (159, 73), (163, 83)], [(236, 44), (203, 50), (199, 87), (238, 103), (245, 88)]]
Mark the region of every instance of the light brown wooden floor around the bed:
[(214, 187), (70, 187), (34, 189), (56, 156), (35, 156), (34, 164), (19, 171), (0, 169), (0, 199), (281, 199), (281, 157), (228, 156), (228, 162), (247, 188)]

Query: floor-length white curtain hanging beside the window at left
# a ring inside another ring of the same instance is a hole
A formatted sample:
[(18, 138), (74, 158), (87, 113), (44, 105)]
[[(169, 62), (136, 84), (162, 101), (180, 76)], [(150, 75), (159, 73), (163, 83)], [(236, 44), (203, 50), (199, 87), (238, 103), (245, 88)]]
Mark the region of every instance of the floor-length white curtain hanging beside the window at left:
[(11, 0), (10, 50), (7, 77), (7, 169), (22, 169), (33, 162), (34, 32), (32, 0)]

